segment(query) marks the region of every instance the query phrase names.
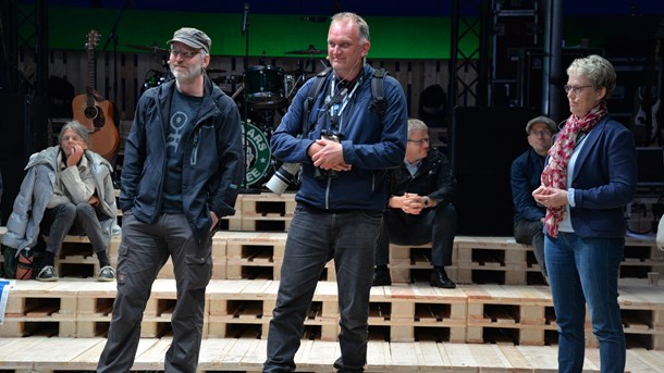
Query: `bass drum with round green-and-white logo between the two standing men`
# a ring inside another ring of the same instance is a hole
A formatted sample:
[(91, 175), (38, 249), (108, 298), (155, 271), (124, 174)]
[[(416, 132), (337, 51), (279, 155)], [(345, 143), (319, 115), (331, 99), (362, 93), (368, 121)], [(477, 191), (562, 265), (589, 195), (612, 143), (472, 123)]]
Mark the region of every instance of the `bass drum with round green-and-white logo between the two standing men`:
[(242, 132), (243, 147), (246, 144), (245, 185), (260, 187), (273, 173), (270, 140), (266, 133), (251, 121), (242, 123)]

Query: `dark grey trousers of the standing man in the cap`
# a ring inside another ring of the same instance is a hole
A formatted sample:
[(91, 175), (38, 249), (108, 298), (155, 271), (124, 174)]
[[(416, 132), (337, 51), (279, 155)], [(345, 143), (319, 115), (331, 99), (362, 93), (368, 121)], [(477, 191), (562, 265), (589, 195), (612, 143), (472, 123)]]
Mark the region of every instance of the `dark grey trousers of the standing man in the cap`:
[(212, 233), (197, 244), (182, 214), (162, 214), (155, 224), (131, 213), (122, 219), (118, 257), (118, 294), (108, 340), (97, 372), (128, 372), (134, 363), (140, 322), (157, 274), (172, 257), (177, 301), (171, 316), (173, 341), (165, 372), (195, 373), (202, 337), (205, 293), (212, 276)]

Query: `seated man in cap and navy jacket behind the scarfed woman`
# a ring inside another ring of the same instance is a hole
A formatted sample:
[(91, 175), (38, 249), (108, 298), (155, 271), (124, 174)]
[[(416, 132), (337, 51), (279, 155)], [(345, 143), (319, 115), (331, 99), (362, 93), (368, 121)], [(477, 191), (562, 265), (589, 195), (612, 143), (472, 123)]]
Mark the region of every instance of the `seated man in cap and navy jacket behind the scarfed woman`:
[(530, 149), (512, 162), (512, 199), (514, 202), (514, 238), (519, 244), (532, 245), (534, 258), (544, 279), (549, 282), (544, 264), (544, 215), (546, 209), (538, 204), (532, 190), (540, 185), (546, 152), (553, 145), (558, 127), (546, 116), (537, 116), (526, 125)]

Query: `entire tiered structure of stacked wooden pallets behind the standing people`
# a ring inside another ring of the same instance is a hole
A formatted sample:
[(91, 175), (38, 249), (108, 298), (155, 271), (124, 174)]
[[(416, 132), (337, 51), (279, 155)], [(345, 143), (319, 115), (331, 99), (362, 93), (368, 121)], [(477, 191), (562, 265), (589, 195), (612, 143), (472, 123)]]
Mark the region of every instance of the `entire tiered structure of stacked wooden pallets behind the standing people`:
[[(295, 202), (292, 194), (242, 195), (236, 207), (237, 214), (225, 219), (230, 231), (213, 238), (201, 371), (259, 371), (265, 360)], [(120, 237), (113, 237), (109, 248), (113, 264), (119, 246)], [(470, 372), (555, 369), (557, 333), (551, 294), (542, 285), (529, 246), (516, 244), (513, 237), (456, 237), (453, 264), (447, 268), (459, 284), (456, 289), (428, 285), (430, 251), (429, 245), (391, 246), (394, 285), (371, 291), (368, 371), (438, 371), (441, 365)], [(12, 288), (0, 326), (0, 369), (94, 369), (108, 333), (115, 283), (94, 281), (98, 263), (86, 237), (66, 237), (58, 270), (64, 278), (57, 283), (20, 281)], [(653, 270), (664, 273), (664, 252), (652, 240), (628, 238), (619, 302), (632, 372), (664, 366), (664, 291), (645, 286), (645, 273)], [(163, 369), (176, 303), (172, 277), (169, 261), (145, 311), (137, 370)], [(336, 299), (330, 262), (305, 321), (299, 369), (329, 371), (329, 360), (339, 355)], [(587, 335), (591, 349), (586, 365), (597, 370), (590, 323)], [(48, 350), (42, 360), (33, 361), (5, 352), (28, 345), (41, 351), (51, 340), (61, 344), (58, 349), (66, 346), (66, 353)], [(460, 355), (457, 359), (450, 353)], [(542, 357), (546, 358), (538, 359)]]

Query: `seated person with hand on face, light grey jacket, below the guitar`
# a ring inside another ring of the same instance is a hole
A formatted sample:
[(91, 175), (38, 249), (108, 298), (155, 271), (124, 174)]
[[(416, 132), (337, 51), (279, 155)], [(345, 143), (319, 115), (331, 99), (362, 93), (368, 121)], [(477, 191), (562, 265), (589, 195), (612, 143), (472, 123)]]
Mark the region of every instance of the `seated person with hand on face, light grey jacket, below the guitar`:
[(118, 219), (111, 164), (88, 149), (88, 130), (78, 122), (62, 126), (58, 140), (30, 156), (2, 244), (29, 249), (44, 232), (48, 243), (37, 279), (57, 281), (54, 258), (64, 237), (85, 234), (99, 259), (98, 281), (113, 281), (107, 256)]

